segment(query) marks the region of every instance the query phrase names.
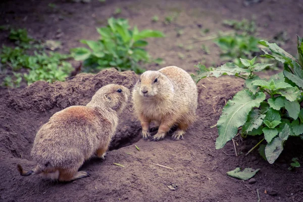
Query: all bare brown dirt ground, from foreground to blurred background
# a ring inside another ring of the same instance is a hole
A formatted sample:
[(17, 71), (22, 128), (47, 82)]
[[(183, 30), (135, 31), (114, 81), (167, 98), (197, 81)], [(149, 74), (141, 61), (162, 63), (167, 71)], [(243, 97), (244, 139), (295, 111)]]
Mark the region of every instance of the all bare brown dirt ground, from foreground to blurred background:
[[(47, 6), (49, 3), (55, 3), (59, 9), (52, 10)], [(67, 52), (80, 45), (79, 39), (97, 39), (94, 27), (104, 25), (117, 7), (122, 9), (118, 17), (128, 18), (139, 29), (159, 29), (166, 33), (164, 39), (149, 40), (148, 46), (151, 56), (165, 59), (166, 64), (161, 67), (177, 65), (189, 72), (203, 60), (207, 66), (220, 64), (218, 49), (212, 41), (203, 42), (210, 47), (210, 55), (201, 51), (202, 43), (192, 42), (194, 36), (199, 36), (197, 25), (215, 33), (226, 30), (221, 25), (223, 19), (251, 19), (255, 15), (260, 36), (271, 38), (281, 30), (288, 32), (291, 39), (283, 47), (293, 54), (295, 34), (303, 33), (299, 21), (303, 10), (299, 0), (263, 1), (250, 7), (243, 7), (242, 1), (219, 0), (107, 1), (105, 4), (98, 1), (89, 4), (59, 0), (2, 1), (0, 24), (28, 28), (32, 36), (40, 39), (56, 39), (56, 34), (63, 32), (59, 40), (64, 42), (62, 51)], [(164, 25), (165, 16), (173, 12), (180, 12), (177, 20)], [(158, 23), (150, 22), (154, 15), (159, 16)], [(176, 37), (176, 28), (182, 28), (184, 34)], [(6, 37), (7, 32), (0, 33), (0, 41), (7, 43)], [(179, 48), (179, 43), (188, 47)], [(178, 57), (179, 53), (185, 55), (183, 60)], [(146, 68), (159, 69), (160, 66), (147, 65)], [(231, 142), (215, 150), (218, 132), (210, 127), (216, 124), (225, 100), (243, 86), (242, 80), (230, 77), (198, 83), (199, 118), (183, 141), (171, 141), (169, 137), (160, 142), (139, 139), (140, 125), (129, 105), (121, 116), (107, 160), (92, 159), (81, 168), (89, 171), (90, 177), (73, 183), (58, 183), (41, 180), (39, 176), (19, 175), (17, 163), (26, 169), (34, 167), (30, 149), (38, 128), (49, 117), (68, 106), (85, 105), (98, 88), (108, 83), (131, 88), (137, 78), (132, 72), (119, 73), (110, 69), (96, 75), (79, 74), (66, 82), (38, 81), (24, 89), (0, 89), (0, 201), (258, 201), (257, 189), (261, 201), (303, 201), (302, 169), (287, 170), (292, 157), (302, 160), (303, 147), (295, 139), (287, 141), (281, 158), (273, 165), (265, 162), (257, 150), (243, 155), (258, 142), (256, 138), (235, 139), (238, 157), (234, 155)], [(140, 151), (130, 145), (134, 142)], [(123, 164), (125, 168), (113, 163)], [(235, 167), (261, 168), (255, 177), (257, 182), (249, 184), (228, 177), (226, 172)], [(178, 190), (168, 189), (170, 183), (176, 184)]]

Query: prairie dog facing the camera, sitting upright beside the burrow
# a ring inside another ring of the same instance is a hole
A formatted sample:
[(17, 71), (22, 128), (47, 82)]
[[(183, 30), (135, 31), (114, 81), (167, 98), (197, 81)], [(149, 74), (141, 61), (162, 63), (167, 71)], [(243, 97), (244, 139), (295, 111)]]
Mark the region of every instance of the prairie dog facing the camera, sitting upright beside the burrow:
[(178, 126), (171, 139), (183, 139), (186, 129), (195, 120), (197, 87), (190, 75), (181, 68), (169, 66), (159, 71), (146, 71), (133, 89), (134, 111), (142, 126), (142, 137), (150, 138), (149, 124), (159, 126), (150, 140), (165, 137), (172, 126)]

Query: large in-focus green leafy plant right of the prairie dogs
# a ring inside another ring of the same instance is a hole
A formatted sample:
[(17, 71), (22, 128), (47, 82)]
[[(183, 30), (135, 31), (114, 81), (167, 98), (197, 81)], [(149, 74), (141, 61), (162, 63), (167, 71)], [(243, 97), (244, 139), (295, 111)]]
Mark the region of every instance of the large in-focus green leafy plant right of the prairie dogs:
[(284, 142), (289, 136), (299, 136), (303, 139), (303, 109), (300, 105), (303, 100), (303, 43), (299, 37), (297, 41), (298, 59), (276, 43), (259, 41), (267, 47), (262, 49), (265, 53), (263, 57), (284, 64), (284, 71), (268, 80), (261, 79), (256, 72), (273, 64), (256, 63), (256, 57), (251, 60), (240, 59), (243, 67), (234, 63), (226, 63), (218, 68), (197, 65), (197, 75), (192, 75), (197, 82), (201, 78), (221, 75), (234, 75), (245, 80), (244, 89), (237, 92), (222, 110), (217, 122), (219, 136), (216, 149), (222, 148), (236, 136), (239, 127), (242, 127), (240, 133), (243, 137), (264, 136), (256, 146), (266, 140), (264, 152), (259, 152), (265, 154), (267, 161), (272, 164), (281, 154)]

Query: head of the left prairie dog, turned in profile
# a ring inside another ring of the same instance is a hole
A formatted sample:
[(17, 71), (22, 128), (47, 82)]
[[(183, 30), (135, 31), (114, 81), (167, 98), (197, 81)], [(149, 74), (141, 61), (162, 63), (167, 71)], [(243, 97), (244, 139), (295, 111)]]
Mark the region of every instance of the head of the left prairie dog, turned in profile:
[(87, 106), (106, 106), (121, 112), (130, 96), (130, 90), (123, 85), (108, 84), (98, 89)]

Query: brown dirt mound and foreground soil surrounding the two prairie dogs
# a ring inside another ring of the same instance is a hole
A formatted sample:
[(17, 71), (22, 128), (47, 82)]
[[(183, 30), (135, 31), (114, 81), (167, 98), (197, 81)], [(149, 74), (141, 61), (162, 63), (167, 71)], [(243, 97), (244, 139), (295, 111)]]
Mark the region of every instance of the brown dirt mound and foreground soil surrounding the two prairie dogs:
[[(132, 88), (138, 76), (114, 69), (96, 75), (79, 74), (66, 82), (48, 84), (38, 81), (29, 87), (8, 93), (0, 99), (0, 199), (1, 201), (301, 201), (302, 170), (287, 170), (288, 160), (269, 165), (258, 154), (244, 156), (258, 141), (236, 139), (239, 157), (232, 143), (215, 150), (216, 124), (225, 101), (242, 88), (239, 79), (222, 77), (198, 83), (196, 123), (182, 141), (149, 142), (140, 139), (140, 124), (131, 105), (123, 112), (119, 129), (107, 160), (96, 158), (80, 170), (91, 176), (72, 183), (51, 182), (40, 176), (22, 177), (16, 164), (32, 169), (30, 149), (39, 127), (54, 113), (72, 106), (85, 105), (100, 87), (117, 83)], [(134, 145), (140, 148), (138, 151)], [(126, 146), (128, 145), (128, 146)], [(124, 147), (123, 147), (124, 146)], [(122, 148), (121, 148), (122, 147)], [(302, 151), (302, 150), (300, 150)], [(118, 167), (119, 163), (125, 167)], [(155, 164), (168, 166), (171, 169)], [(226, 175), (235, 167), (261, 168), (257, 182), (233, 179)], [(170, 190), (173, 185), (177, 190)], [(265, 194), (265, 190), (267, 194)]]

